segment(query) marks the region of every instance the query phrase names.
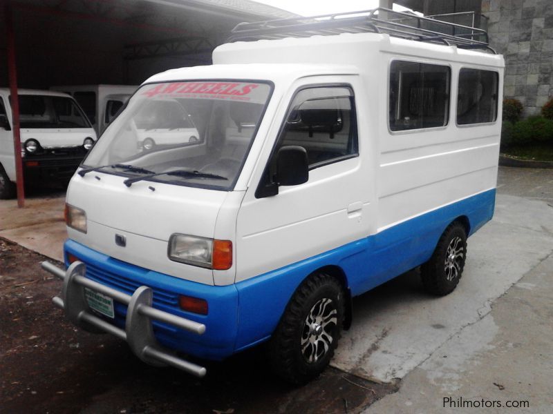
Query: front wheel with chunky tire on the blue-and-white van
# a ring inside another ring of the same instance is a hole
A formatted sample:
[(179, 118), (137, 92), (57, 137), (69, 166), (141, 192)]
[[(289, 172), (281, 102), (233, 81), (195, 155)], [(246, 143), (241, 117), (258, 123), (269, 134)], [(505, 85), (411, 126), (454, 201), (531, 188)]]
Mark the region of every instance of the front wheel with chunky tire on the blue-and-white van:
[(330, 275), (316, 273), (296, 290), (268, 344), (272, 370), (294, 385), (328, 366), (344, 323), (344, 290)]

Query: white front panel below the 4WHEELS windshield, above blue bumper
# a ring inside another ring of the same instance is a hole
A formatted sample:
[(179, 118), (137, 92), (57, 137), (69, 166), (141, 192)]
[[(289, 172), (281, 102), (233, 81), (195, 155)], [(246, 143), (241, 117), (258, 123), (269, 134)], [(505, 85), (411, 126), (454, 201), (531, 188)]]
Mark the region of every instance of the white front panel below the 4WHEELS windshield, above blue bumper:
[[(174, 233), (213, 238), (228, 193), (153, 181), (127, 187), (124, 179), (102, 172), (73, 176), (66, 200), (85, 211), (87, 231), (68, 228), (69, 238), (142, 268), (214, 284), (211, 269), (171, 261), (168, 242)], [(124, 237), (125, 246), (116, 235)]]

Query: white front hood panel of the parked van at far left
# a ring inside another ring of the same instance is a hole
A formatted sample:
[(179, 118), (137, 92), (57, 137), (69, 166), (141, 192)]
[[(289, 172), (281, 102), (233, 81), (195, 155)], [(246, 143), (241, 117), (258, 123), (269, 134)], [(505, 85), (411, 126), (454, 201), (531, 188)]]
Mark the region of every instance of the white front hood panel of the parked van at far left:
[(82, 146), (87, 137), (96, 141), (96, 132), (92, 128), (21, 128), (21, 144), (32, 138), (42, 148)]

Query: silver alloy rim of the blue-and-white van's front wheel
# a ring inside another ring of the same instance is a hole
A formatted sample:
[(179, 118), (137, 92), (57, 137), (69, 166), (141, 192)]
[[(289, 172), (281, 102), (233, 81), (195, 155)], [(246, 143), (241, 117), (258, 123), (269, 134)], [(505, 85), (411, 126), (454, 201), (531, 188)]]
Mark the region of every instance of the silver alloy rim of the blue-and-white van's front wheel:
[(332, 346), (338, 311), (332, 299), (319, 299), (309, 311), (301, 333), (301, 355), (309, 364), (323, 358)]

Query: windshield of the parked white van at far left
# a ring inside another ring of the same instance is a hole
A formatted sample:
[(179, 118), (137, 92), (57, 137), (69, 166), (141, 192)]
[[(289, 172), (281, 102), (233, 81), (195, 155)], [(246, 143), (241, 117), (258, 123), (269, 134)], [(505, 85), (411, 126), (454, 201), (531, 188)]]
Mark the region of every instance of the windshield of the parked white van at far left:
[(72, 98), (48, 95), (18, 97), (21, 128), (91, 128)]

